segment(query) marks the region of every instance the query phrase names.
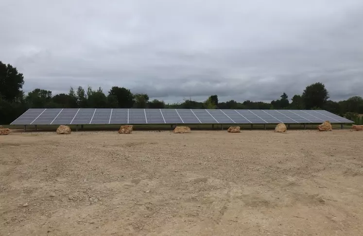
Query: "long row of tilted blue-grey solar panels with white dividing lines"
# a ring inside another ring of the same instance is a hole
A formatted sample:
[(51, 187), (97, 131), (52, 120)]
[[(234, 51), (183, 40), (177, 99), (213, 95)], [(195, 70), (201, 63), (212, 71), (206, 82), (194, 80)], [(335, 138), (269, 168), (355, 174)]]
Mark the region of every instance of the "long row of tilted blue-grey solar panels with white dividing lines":
[(353, 123), (325, 110), (29, 109), (12, 125)]

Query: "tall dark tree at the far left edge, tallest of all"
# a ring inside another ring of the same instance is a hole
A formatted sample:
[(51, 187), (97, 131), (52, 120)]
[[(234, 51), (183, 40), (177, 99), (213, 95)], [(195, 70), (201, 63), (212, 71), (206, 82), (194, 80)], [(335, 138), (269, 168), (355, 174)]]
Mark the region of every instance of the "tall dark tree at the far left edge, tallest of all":
[(0, 61), (0, 96), (4, 101), (19, 101), (23, 97), (21, 90), (24, 84), (22, 73), (10, 64), (5, 65)]

